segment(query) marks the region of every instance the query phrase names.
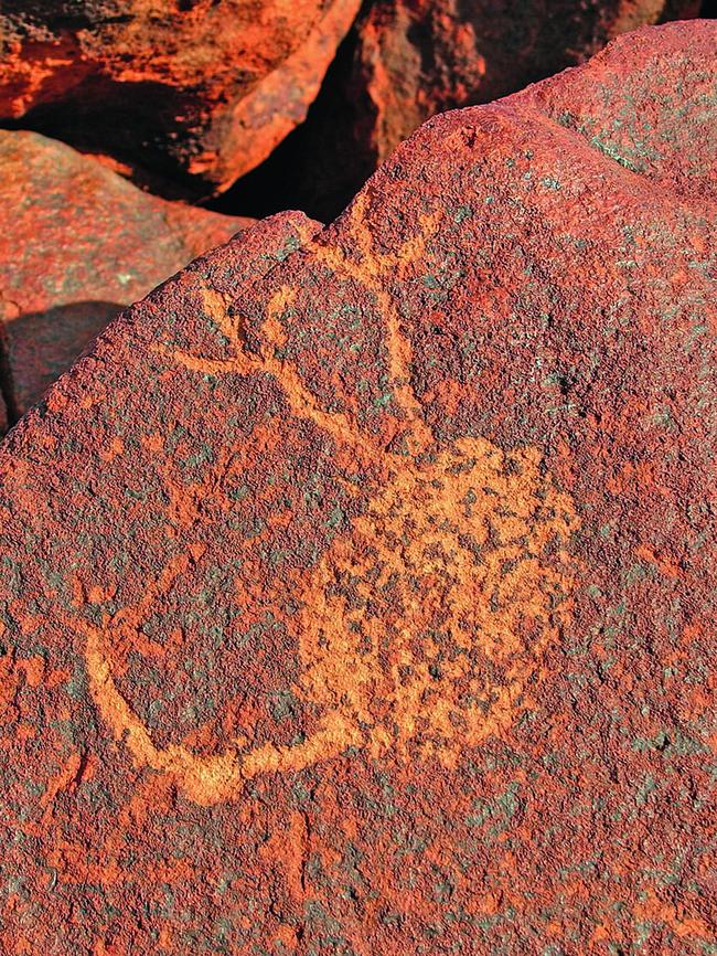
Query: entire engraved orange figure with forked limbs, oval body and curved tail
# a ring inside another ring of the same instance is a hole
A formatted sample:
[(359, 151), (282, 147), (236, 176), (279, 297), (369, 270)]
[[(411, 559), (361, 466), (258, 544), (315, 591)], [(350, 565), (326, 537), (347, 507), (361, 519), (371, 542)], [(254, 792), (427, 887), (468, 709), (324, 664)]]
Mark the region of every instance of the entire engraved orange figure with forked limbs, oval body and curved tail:
[[(393, 750), (408, 760), (417, 752), (452, 765), (462, 746), (477, 745), (514, 719), (568, 613), (565, 595), (572, 577), (561, 567), (569, 565), (565, 544), (578, 520), (539, 453), (504, 453), (483, 438), (437, 448), (413, 386), (410, 337), (389, 289), (424, 255), (438, 220), (425, 217), (416, 237), (394, 253), (379, 253), (366, 210), (361, 194), (349, 214), (352, 254), (320, 238), (303, 249), (373, 296), (386, 330), (390, 389), (408, 426), (409, 456), (376, 444), (347, 412), (325, 411), (282, 358), (282, 318), (297, 297), (290, 286), (269, 299), (255, 352), (233, 305), (211, 289), (203, 293), (204, 310), (232, 354), (208, 359), (161, 347), (175, 363), (204, 374), (270, 375), (296, 417), (313, 422), (338, 448), (349, 446), (366, 461), (379, 461), (383, 475), (370, 489), (365, 510), (296, 582), (299, 612), (287, 620), (300, 663), (295, 690), (320, 714), (302, 742), (244, 751), (236, 739), (215, 756), (196, 755), (183, 744), (158, 747), (120, 694), (109, 634), (127, 639), (138, 633), (153, 603), (201, 559), (196, 543), (168, 563), (133, 607), (103, 627), (83, 626), (90, 692), (113, 735), (125, 741), (137, 767), (170, 774), (199, 804), (233, 798), (257, 774), (296, 772), (350, 746), (373, 757)], [(218, 465), (226, 479), (231, 456), (220, 455)], [(183, 520), (183, 538), (191, 538), (192, 512)], [(555, 542), (557, 564), (555, 554), (544, 557), (555, 552)], [(377, 710), (376, 701), (384, 702)]]

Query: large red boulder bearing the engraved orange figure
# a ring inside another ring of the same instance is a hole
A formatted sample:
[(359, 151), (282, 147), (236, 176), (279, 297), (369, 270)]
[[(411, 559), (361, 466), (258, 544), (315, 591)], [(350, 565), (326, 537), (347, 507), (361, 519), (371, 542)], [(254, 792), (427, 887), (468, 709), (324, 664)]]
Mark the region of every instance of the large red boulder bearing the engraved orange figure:
[(717, 31), (424, 126), (0, 449), (0, 946), (702, 954)]

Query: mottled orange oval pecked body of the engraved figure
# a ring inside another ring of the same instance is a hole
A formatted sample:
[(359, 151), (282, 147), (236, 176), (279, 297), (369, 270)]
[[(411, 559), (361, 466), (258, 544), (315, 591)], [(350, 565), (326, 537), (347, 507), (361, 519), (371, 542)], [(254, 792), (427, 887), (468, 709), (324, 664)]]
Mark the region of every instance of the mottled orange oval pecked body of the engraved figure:
[[(424, 756), (451, 763), (520, 709), (568, 613), (553, 608), (571, 578), (544, 551), (564, 548), (577, 519), (535, 453), (462, 439), (429, 464), (394, 467), (301, 596), (300, 683), (366, 726), (374, 755), (408, 758), (420, 737)], [(502, 686), (482, 673), (489, 662), (504, 669)]]

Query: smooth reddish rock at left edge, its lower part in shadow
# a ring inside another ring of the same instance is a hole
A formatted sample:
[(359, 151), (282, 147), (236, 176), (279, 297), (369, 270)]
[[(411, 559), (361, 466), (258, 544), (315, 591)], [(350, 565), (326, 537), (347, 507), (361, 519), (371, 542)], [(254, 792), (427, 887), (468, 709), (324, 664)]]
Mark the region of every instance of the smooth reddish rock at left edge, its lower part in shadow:
[(157, 199), (61, 142), (4, 130), (0, 211), (0, 378), (13, 418), (127, 305), (253, 222)]

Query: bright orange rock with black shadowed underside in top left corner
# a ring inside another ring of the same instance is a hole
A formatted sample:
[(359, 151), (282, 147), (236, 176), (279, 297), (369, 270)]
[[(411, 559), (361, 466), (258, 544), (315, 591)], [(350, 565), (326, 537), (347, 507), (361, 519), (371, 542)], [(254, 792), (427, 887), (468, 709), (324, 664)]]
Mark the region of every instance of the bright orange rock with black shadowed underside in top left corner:
[(358, 7), (8, 0), (0, 118), (211, 193), (301, 123)]

